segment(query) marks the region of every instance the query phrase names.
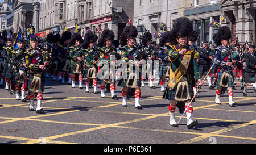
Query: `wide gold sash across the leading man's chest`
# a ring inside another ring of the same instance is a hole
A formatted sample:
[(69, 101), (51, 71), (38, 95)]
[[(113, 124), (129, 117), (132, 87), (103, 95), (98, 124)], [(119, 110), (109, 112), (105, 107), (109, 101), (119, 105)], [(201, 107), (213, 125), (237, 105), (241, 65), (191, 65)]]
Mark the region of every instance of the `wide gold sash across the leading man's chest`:
[[(180, 50), (181, 49), (176, 49), (176, 51)], [(179, 83), (180, 79), (184, 76), (184, 74), (187, 72), (192, 52), (194, 52), (194, 50), (189, 49), (188, 52), (185, 53), (185, 55), (183, 56), (183, 60), (181, 61), (179, 67), (175, 70), (175, 72), (170, 69), (170, 82), (168, 83), (168, 86), (170, 88), (174, 88), (177, 83)]]

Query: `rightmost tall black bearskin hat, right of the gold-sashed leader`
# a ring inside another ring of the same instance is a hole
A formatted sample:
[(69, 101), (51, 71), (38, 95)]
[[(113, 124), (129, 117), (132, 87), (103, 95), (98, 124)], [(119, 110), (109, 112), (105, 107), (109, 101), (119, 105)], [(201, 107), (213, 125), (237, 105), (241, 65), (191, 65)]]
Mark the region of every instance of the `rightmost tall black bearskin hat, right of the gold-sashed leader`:
[(227, 26), (222, 26), (218, 29), (218, 32), (213, 35), (213, 40), (217, 45), (221, 45), (221, 40), (231, 38), (231, 30)]

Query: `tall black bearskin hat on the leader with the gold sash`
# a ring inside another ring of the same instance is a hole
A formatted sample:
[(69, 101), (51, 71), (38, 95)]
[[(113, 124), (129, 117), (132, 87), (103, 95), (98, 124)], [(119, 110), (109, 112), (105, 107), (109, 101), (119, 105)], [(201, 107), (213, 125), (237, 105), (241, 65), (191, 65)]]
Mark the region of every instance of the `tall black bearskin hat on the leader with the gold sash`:
[(191, 20), (186, 17), (177, 18), (174, 21), (171, 33), (173, 35), (169, 36), (171, 43), (177, 44), (176, 39), (179, 37), (188, 37), (189, 33), (193, 31), (193, 25)]

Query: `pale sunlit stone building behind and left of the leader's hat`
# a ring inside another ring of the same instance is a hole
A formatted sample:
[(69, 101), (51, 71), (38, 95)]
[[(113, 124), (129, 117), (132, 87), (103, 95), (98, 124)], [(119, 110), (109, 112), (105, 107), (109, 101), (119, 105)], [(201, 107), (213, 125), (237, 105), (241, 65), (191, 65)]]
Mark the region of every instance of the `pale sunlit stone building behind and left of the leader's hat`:
[[(158, 23), (164, 23), (166, 30), (162, 31), (170, 31), (174, 20), (183, 16), (184, 9), (185, 1), (180, 0), (134, 0), (133, 24), (138, 27), (138, 30), (142, 26), (143, 30), (154, 34), (161, 31)], [(139, 31), (137, 41), (141, 41), (145, 31)], [(153, 40), (158, 41), (155, 37)]]

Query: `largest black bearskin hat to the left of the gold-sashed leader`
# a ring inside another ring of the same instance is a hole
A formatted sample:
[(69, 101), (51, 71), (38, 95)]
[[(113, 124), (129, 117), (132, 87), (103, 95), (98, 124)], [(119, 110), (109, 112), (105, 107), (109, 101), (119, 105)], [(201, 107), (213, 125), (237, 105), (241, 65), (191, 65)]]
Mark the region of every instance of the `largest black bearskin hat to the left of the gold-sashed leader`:
[(135, 26), (126, 26), (123, 29), (122, 35), (121, 35), (121, 39), (120, 39), (120, 44), (121, 46), (125, 46), (127, 45), (127, 40), (131, 39), (131, 38), (136, 38), (138, 36), (138, 31), (137, 28)]

